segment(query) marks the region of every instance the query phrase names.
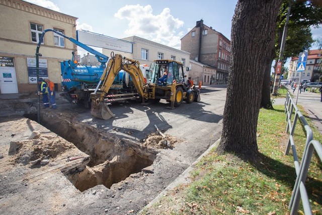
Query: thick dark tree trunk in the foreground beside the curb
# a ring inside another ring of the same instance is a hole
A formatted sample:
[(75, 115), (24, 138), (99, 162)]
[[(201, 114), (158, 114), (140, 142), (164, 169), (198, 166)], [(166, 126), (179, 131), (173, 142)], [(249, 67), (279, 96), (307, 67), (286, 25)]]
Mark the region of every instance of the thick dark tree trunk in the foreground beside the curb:
[(274, 47), (282, 0), (239, 0), (232, 19), (232, 69), (228, 76), (219, 154), (257, 160), (257, 121), (264, 73)]

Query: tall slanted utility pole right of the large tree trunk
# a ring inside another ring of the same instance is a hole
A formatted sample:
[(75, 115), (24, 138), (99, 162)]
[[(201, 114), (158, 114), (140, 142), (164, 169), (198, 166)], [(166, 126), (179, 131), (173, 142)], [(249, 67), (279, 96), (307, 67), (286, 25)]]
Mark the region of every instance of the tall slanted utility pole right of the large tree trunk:
[[(283, 29), (283, 36), (282, 36), (280, 54), (279, 54), (278, 61), (277, 61), (277, 64), (281, 66), (280, 68), (282, 68), (283, 53), (284, 53), (284, 49), (285, 49), (285, 41), (286, 41), (288, 21), (289, 21), (290, 13), (291, 13), (291, 1), (288, 2), (288, 11), (287, 11), (287, 16), (286, 16), (286, 22), (285, 22), (285, 26), (284, 26), (284, 29)], [(278, 89), (278, 85), (280, 83), (281, 70), (282, 69), (279, 70), (279, 66), (276, 66), (275, 80), (274, 80), (274, 86), (273, 86), (273, 95), (274, 96), (277, 95), (277, 89)]]

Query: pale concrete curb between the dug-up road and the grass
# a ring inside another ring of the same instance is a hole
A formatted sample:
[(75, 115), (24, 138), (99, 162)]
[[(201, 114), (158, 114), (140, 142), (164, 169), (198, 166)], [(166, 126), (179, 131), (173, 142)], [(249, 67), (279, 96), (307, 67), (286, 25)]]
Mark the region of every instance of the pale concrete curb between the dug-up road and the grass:
[(168, 185), (168, 187), (166, 187), (166, 189), (164, 189), (162, 192), (160, 192), (152, 201), (150, 201), (143, 209), (141, 209), (138, 214), (142, 214), (142, 212), (151, 207), (155, 202), (157, 202), (160, 198), (166, 196), (167, 192), (169, 190), (173, 190), (175, 187), (181, 185), (181, 184), (188, 184), (191, 183), (190, 180), (190, 172), (194, 169), (194, 167), (196, 166), (196, 164), (206, 155), (209, 154), (210, 150), (212, 150), (213, 148), (217, 147), (219, 144), (220, 138), (217, 139), (213, 145), (211, 145), (201, 156), (198, 157), (198, 159), (193, 162), (183, 173), (181, 173), (181, 175), (179, 175), (171, 184)]

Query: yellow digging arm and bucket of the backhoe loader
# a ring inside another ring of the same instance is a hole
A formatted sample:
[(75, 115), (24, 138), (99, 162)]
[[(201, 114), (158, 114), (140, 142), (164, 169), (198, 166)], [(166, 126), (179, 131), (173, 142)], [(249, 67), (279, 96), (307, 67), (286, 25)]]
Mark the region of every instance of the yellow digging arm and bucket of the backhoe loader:
[[(100, 119), (109, 119), (114, 117), (115, 115), (111, 112), (108, 105), (104, 103), (104, 99), (111, 88), (115, 77), (119, 73), (121, 69), (126, 71), (132, 78), (133, 84), (138, 92), (138, 94), (145, 98), (145, 84), (144, 77), (139, 68), (139, 61), (133, 60), (127, 57), (122, 57), (120, 54), (116, 54), (113, 56), (109, 62), (107, 67), (104, 70), (104, 73), (101, 76), (100, 83), (98, 84), (94, 93), (91, 94), (92, 99), (92, 107), (91, 114)], [(100, 84), (102, 84), (101, 89), (99, 90)]]

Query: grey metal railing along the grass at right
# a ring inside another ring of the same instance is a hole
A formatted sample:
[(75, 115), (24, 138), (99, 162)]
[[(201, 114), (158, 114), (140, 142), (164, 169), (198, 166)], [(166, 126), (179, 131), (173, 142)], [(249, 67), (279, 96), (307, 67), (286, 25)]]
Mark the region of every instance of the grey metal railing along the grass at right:
[[(292, 122), (291, 120), (292, 120), (293, 112), (294, 112), (294, 119)], [(294, 103), (289, 93), (287, 93), (286, 95), (285, 113), (286, 113), (286, 121), (287, 121), (286, 132), (290, 133), (288, 144), (285, 150), (285, 155), (288, 155), (290, 148), (292, 148), (295, 172), (297, 176), (288, 208), (291, 210), (290, 214), (297, 214), (298, 205), (301, 198), (304, 213), (312, 214), (312, 210), (310, 207), (308, 195), (304, 184), (305, 184), (308, 168), (314, 151), (317, 153), (319, 159), (322, 161), (322, 146), (319, 141), (313, 139), (313, 132), (310, 126), (307, 124), (302, 113), (298, 110), (296, 104)], [(304, 148), (301, 162), (298, 161), (296, 147), (295, 147), (294, 138), (293, 138), (295, 126), (298, 120), (304, 126), (305, 133), (306, 133), (305, 148)]]

